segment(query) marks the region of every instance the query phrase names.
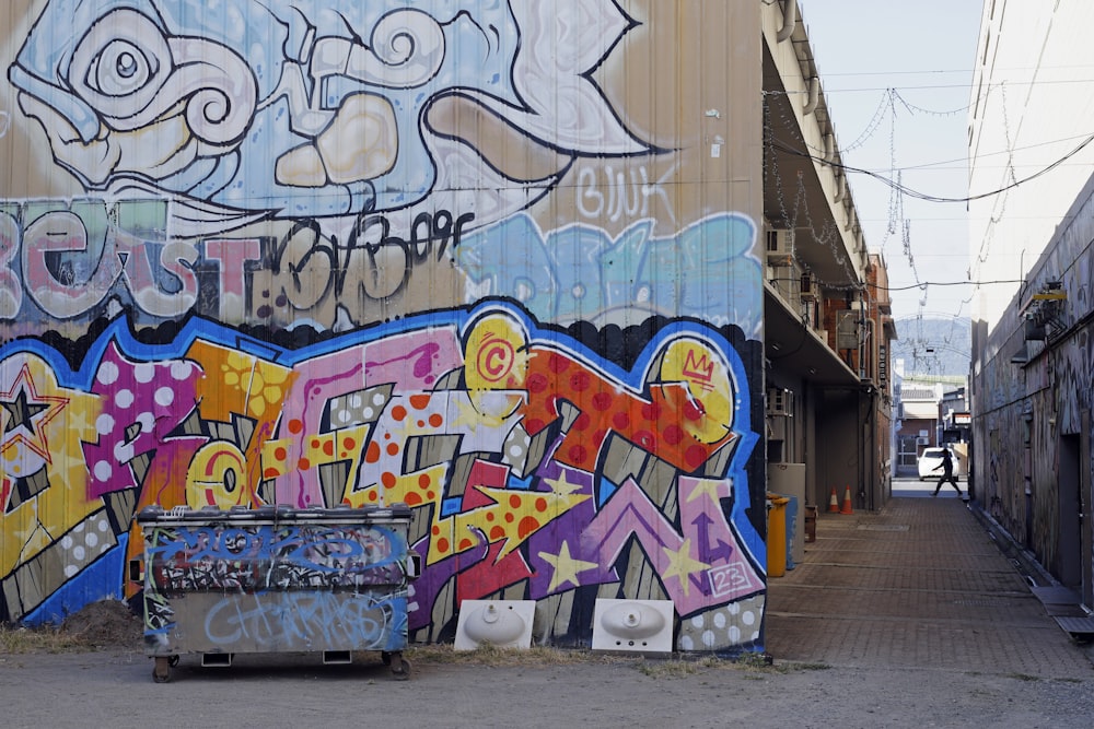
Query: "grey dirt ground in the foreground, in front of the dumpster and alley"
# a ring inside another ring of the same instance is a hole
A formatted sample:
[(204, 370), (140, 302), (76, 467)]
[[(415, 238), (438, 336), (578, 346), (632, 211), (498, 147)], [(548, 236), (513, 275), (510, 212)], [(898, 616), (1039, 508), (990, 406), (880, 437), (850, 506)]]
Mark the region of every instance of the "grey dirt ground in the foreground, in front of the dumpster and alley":
[[(140, 621), (91, 605), (43, 639), (0, 654), (5, 727), (1001, 727), (1091, 726), (1094, 681), (978, 671), (863, 669), (775, 660), (415, 647), (409, 680), (375, 654), (184, 656), (154, 683)], [(89, 649), (89, 646), (91, 648)]]

